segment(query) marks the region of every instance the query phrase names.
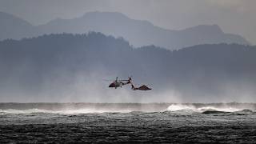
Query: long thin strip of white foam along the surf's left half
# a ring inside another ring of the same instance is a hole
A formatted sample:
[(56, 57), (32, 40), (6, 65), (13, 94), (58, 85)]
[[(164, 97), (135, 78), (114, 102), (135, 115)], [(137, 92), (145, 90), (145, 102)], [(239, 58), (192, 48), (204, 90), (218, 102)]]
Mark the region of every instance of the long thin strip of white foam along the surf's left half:
[(0, 110), (0, 113), (7, 114), (33, 114), (33, 113), (51, 113), (51, 114), (89, 114), (89, 113), (129, 113), (130, 110), (93, 110), (93, 109), (79, 109), (79, 110), (42, 110), (42, 109), (28, 109), (28, 110)]

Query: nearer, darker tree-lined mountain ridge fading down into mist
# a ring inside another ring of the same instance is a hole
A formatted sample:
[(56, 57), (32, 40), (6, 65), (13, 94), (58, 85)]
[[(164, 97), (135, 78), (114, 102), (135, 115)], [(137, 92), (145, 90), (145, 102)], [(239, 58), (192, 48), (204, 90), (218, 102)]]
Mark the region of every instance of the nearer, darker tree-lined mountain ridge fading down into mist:
[[(150, 84), (152, 92), (177, 90), (187, 102), (194, 98), (234, 100), (242, 90), (255, 92), (255, 55), (255, 46), (238, 44), (208, 44), (174, 51), (156, 46), (134, 49), (122, 38), (94, 32), (5, 40), (0, 42), (0, 98), (10, 100), (17, 94), (37, 97), (46, 92), (54, 98), (66, 90), (77, 93), (69, 88), (80, 86), (77, 81), (88, 82), (82, 90), (91, 90), (88, 87), (102, 82), (103, 76), (132, 74), (135, 82)], [(94, 90), (107, 89), (107, 85)], [(232, 93), (230, 97), (225, 96), (226, 90)]]

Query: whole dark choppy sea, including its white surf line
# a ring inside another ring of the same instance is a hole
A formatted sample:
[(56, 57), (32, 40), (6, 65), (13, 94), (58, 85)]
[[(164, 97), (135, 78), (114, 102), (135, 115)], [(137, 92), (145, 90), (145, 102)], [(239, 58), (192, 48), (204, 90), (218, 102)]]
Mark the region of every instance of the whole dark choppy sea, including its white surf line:
[(255, 143), (256, 105), (1, 103), (1, 143)]

